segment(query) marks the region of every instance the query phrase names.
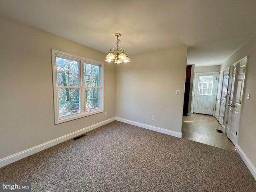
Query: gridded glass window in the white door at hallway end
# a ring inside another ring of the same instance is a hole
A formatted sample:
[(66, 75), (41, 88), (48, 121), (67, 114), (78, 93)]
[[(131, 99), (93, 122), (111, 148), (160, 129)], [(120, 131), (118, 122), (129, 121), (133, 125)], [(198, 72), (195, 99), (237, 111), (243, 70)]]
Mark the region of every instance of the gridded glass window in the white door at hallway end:
[(198, 95), (212, 95), (213, 76), (199, 76), (198, 79)]

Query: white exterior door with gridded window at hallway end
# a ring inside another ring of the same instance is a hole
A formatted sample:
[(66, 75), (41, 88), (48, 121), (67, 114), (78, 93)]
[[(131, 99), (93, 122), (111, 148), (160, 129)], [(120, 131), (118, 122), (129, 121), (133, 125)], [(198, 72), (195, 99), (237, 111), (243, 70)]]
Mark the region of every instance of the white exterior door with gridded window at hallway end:
[(194, 113), (212, 115), (214, 111), (217, 73), (196, 74)]

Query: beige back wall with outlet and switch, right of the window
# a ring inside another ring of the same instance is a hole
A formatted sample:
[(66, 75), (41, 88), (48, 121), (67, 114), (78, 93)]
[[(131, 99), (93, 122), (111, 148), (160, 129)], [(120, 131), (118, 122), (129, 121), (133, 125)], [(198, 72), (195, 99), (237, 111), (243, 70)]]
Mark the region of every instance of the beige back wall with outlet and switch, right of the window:
[(116, 116), (181, 132), (186, 58), (182, 46), (134, 54), (129, 64), (117, 65)]

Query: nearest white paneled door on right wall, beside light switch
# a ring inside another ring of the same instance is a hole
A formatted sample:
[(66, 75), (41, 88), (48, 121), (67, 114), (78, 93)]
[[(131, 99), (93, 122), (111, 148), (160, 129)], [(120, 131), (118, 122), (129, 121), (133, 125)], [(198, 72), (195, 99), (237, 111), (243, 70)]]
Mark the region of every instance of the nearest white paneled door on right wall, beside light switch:
[(232, 119), (230, 125), (230, 135), (229, 138), (234, 145), (237, 143), (237, 136), (239, 131), (239, 122), (240, 122), (240, 111), (242, 106), (242, 96), (244, 90), (244, 78), (245, 78), (245, 70), (246, 70), (246, 61), (244, 60), (237, 64), (236, 68), (236, 81), (235, 81), (235, 89), (233, 94), (233, 102), (230, 105), (232, 108)]

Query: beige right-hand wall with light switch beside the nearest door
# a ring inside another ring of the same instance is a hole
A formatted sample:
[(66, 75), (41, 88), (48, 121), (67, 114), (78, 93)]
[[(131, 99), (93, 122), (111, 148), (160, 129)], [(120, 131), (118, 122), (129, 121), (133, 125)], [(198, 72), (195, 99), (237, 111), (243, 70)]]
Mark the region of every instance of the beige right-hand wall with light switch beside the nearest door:
[[(234, 53), (221, 65), (220, 70), (224, 70), (245, 56), (248, 56), (248, 61), (238, 131), (238, 145), (256, 167), (256, 38), (250, 40)], [(251, 94), (249, 100), (246, 99), (248, 93)]]

